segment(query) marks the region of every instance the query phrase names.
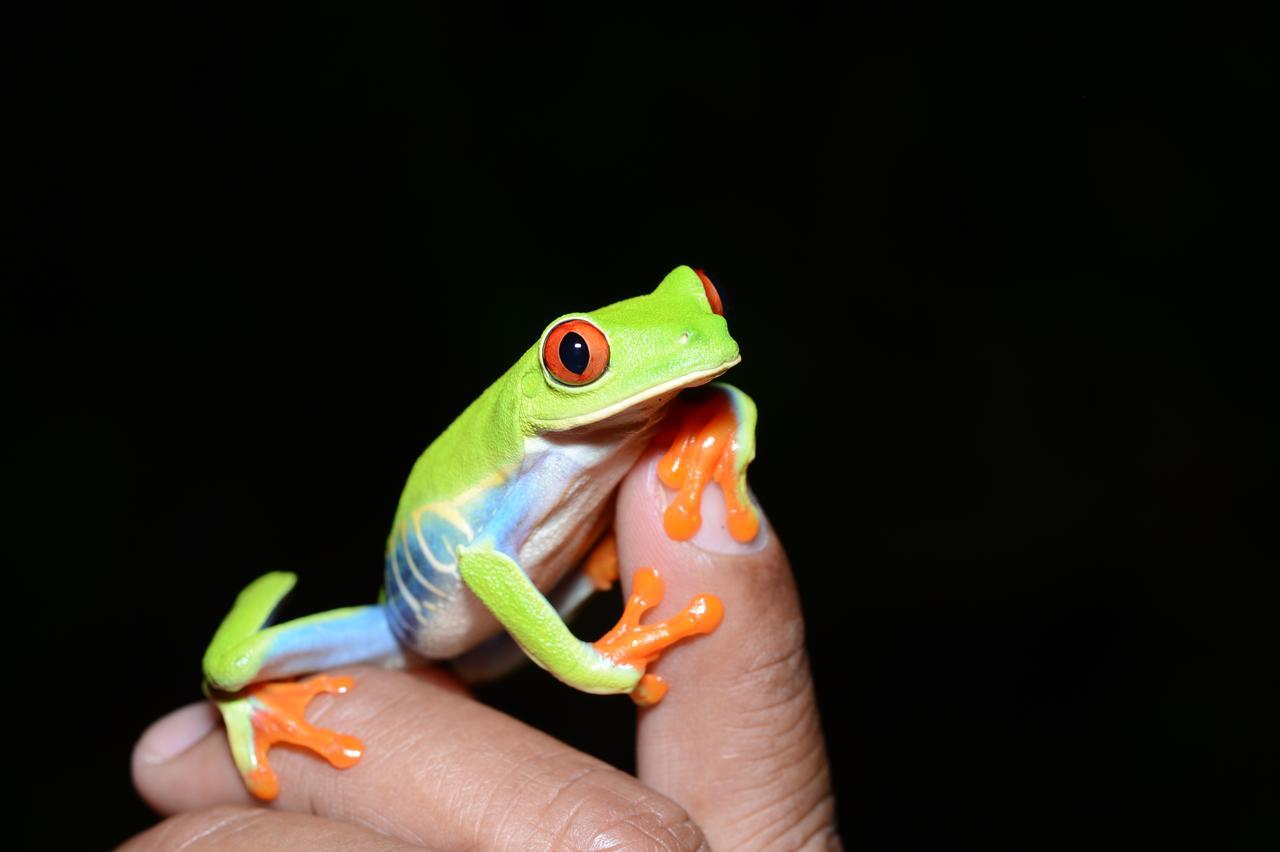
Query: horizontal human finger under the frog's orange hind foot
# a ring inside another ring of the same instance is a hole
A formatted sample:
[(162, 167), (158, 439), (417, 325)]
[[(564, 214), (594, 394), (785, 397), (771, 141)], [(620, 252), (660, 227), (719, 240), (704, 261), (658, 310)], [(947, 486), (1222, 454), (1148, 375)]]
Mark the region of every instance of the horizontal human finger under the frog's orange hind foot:
[[(280, 777), (273, 807), (448, 848), (703, 843), (673, 801), (516, 719), (411, 673), (352, 674), (356, 688), (319, 696), (308, 716), (362, 738), (364, 757), (339, 771), (308, 753), (273, 750)], [(168, 761), (136, 759), (134, 783), (163, 814), (246, 801), (220, 727)]]

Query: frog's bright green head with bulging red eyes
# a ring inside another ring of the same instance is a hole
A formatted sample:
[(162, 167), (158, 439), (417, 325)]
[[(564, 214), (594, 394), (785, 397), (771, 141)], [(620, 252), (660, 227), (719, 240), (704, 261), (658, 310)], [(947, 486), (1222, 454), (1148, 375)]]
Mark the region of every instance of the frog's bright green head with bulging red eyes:
[(521, 359), (526, 429), (562, 431), (660, 407), (740, 359), (716, 287), (680, 266), (648, 296), (547, 326)]

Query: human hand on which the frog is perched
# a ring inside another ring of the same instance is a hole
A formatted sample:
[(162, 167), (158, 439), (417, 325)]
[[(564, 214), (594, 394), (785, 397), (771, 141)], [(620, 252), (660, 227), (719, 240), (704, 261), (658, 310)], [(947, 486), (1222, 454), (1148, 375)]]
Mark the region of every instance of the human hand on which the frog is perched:
[(155, 723), (134, 747), (133, 782), (168, 819), (123, 848), (840, 848), (782, 546), (768, 522), (735, 541), (710, 495), (698, 535), (672, 541), (657, 459), (618, 495), (623, 588), (653, 565), (667, 595), (646, 620), (708, 590), (726, 618), (654, 667), (671, 692), (639, 714), (637, 777), (479, 704), (439, 668), (358, 668), (358, 687), (319, 697), (310, 718), (358, 730), (364, 760), (337, 771), (275, 750), (287, 783), (270, 807), (244, 791), (209, 702)]

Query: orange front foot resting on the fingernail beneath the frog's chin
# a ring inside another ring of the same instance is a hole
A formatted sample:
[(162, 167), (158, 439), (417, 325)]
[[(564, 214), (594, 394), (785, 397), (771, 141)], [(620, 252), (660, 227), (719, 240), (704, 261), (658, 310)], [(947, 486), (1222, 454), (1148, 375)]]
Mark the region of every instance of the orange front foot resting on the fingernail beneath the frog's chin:
[(730, 535), (739, 541), (753, 540), (760, 518), (746, 495), (750, 453), (741, 454), (739, 417), (728, 394), (685, 407), (667, 435), (673, 440), (658, 462), (658, 478), (677, 491), (663, 514), (667, 535), (684, 541), (698, 532), (703, 525), (703, 490), (716, 482), (724, 495)]

